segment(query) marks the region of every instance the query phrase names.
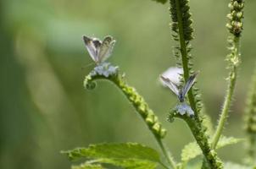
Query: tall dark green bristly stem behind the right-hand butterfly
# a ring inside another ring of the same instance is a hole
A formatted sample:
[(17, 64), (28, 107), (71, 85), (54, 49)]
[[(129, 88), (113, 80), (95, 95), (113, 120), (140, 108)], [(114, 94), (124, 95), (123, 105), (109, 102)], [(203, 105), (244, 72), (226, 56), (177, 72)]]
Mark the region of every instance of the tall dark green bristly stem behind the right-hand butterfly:
[[(183, 76), (185, 82), (189, 78), (190, 75), (190, 68), (189, 68), (189, 57), (188, 56), (188, 43), (192, 40), (192, 28), (191, 28), (191, 19), (189, 14), (189, 6), (186, 0), (170, 0), (170, 12), (172, 14), (172, 20), (174, 22), (173, 30), (177, 33), (178, 41), (180, 45), (181, 51), (181, 62), (183, 68)], [(182, 6), (182, 8), (181, 8)], [(187, 30), (186, 32), (184, 30)], [(186, 35), (187, 34), (187, 35)], [(198, 115), (198, 108), (195, 101), (195, 95), (193, 95), (192, 90), (188, 92), (188, 101), (192, 110), (195, 113), (195, 117), (192, 120), (187, 120), (186, 123), (188, 124), (189, 128), (192, 131), (194, 138), (197, 140), (198, 145), (200, 146), (201, 150), (203, 151), (203, 155), (208, 161), (209, 166), (213, 169), (216, 168), (223, 168), (222, 162), (220, 161), (219, 157), (217, 156), (216, 152), (211, 149), (209, 144), (209, 138), (205, 133), (206, 129), (203, 126), (203, 119)]]

